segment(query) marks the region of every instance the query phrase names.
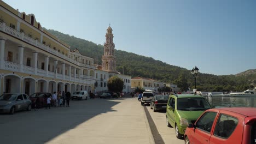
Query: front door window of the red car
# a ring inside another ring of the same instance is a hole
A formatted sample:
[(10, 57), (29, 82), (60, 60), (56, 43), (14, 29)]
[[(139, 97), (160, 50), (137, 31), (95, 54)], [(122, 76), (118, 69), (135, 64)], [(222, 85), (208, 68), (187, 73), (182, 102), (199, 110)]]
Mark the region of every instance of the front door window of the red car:
[(204, 113), (203, 116), (197, 121), (196, 128), (206, 131), (207, 133), (210, 133), (216, 115), (217, 112)]

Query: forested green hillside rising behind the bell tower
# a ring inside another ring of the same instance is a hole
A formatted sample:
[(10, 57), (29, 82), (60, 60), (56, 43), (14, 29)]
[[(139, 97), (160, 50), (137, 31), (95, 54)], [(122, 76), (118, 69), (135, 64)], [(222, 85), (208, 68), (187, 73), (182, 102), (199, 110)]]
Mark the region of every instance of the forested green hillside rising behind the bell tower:
[[(82, 55), (95, 59), (94, 63), (101, 64), (103, 45), (97, 45), (91, 41), (76, 38), (73, 35), (63, 34), (53, 29), (48, 30), (60, 40), (71, 46), (71, 50), (78, 49)], [(165, 62), (155, 60), (152, 57), (137, 55), (136, 53), (115, 50), (117, 57), (117, 70), (132, 77), (140, 76), (154, 80), (176, 83), (178, 87), (194, 88), (194, 77), (190, 70)], [(245, 71), (246, 72), (246, 71)], [(244, 73), (245, 73), (244, 72)], [(256, 83), (256, 73), (237, 75), (212, 75), (199, 73), (196, 77), (196, 85), (199, 91), (244, 91), (252, 88)]]

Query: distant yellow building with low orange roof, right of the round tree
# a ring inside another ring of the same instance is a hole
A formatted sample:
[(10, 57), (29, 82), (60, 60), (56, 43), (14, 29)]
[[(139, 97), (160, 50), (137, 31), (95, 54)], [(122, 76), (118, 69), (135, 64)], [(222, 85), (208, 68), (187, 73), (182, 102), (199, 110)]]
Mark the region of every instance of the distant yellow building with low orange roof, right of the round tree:
[(136, 87), (150, 89), (152, 91), (158, 92), (159, 87), (164, 87), (164, 82), (143, 77), (133, 77), (131, 79), (131, 88), (135, 89)]

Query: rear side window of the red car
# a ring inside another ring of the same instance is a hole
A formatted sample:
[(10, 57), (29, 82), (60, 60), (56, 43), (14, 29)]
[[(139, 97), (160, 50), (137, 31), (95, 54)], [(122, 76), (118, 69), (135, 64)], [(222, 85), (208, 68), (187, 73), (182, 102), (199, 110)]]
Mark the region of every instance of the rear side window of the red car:
[(228, 138), (236, 128), (237, 118), (220, 114), (214, 129), (214, 135)]

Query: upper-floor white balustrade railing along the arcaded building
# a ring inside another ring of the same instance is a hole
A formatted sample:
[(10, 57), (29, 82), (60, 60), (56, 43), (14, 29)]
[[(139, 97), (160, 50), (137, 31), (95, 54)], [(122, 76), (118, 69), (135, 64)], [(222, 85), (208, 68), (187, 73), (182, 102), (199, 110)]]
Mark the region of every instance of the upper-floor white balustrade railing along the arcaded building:
[[(60, 52), (58, 52), (58, 51), (56, 51), (54, 49), (51, 49), (49, 46), (46, 46), (46, 45), (40, 43), (38, 40), (34, 40), (34, 39), (28, 37), (27, 35), (25, 35), (24, 33), (21, 33), (19, 31), (17, 31), (16, 29), (11, 28), (11, 27), (5, 25), (4, 22), (0, 22), (0, 30), (5, 32), (5, 33), (8, 33), (10, 35), (13, 35), (14, 37), (16, 37), (18, 39), (26, 41), (26, 43), (28, 43), (28, 44), (37, 46), (37, 47), (39, 47), (42, 50), (48, 51), (49, 53), (51, 53), (53, 55), (59, 56), (59, 57), (61, 57), (63, 59), (66, 59), (69, 62), (72, 62), (72, 63), (77, 64), (77, 65), (80, 66), (80, 63), (75, 61), (74, 59), (69, 58), (68, 56), (63, 55), (62, 53), (60, 53)], [(86, 67), (89, 67), (89, 66), (86, 65)], [(95, 68), (95, 67), (94, 66), (90, 66), (90, 68)]]

